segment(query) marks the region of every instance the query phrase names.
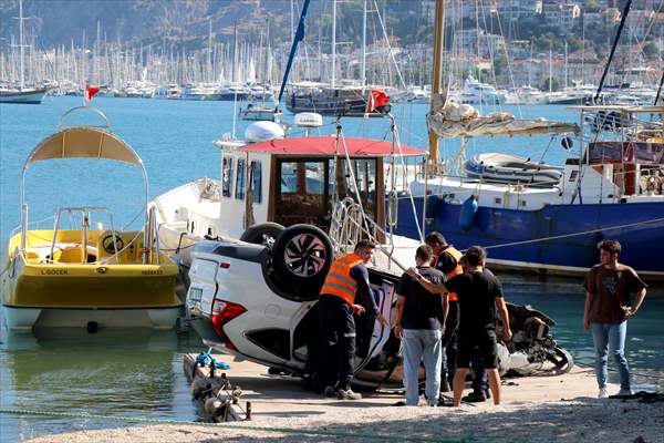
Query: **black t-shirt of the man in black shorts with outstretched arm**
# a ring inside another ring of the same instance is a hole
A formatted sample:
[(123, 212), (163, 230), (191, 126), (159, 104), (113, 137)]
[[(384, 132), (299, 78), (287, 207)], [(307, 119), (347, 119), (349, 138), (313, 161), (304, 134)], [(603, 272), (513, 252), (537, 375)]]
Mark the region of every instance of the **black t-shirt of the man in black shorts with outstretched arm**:
[(502, 287), (491, 271), (464, 272), (447, 280), (445, 287), (458, 295), (461, 331), (496, 329), (496, 297), (502, 297)]

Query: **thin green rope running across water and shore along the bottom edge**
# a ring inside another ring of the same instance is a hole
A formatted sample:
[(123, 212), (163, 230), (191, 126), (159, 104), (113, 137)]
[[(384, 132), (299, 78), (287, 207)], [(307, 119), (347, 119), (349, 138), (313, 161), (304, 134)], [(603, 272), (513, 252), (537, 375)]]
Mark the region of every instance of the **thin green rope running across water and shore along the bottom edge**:
[(168, 424), (168, 425), (193, 425), (193, 426), (214, 426), (214, 427), (227, 427), (229, 430), (241, 430), (241, 431), (263, 431), (282, 434), (300, 434), (300, 435), (320, 435), (320, 436), (336, 436), (336, 437), (349, 437), (349, 439), (366, 439), (366, 440), (378, 440), (378, 441), (408, 441), (408, 442), (435, 442), (435, 443), (478, 443), (484, 440), (476, 439), (473, 436), (461, 437), (458, 440), (450, 439), (437, 439), (427, 436), (413, 436), (413, 435), (401, 435), (401, 434), (365, 434), (355, 432), (340, 432), (340, 431), (324, 431), (324, 430), (310, 430), (310, 429), (297, 429), (297, 427), (279, 427), (279, 426), (248, 426), (242, 424), (235, 424), (237, 422), (226, 423), (205, 423), (205, 422), (193, 422), (185, 420), (170, 420), (170, 419), (146, 419), (141, 416), (126, 416), (126, 415), (105, 415), (105, 414), (90, 414), (90, 413), (74, 413), (74, 412), (55, 412), (55, 411), (34, 411), (24, 409), (0, 409), (0, 414), (3, 415), (20, 415), (20, 416), (49, 416), (60, 419), (84, 419), (84, 420), (97, 420), (106, 422), (127, 422), (127, 423), (145, 423), (145, 424)]

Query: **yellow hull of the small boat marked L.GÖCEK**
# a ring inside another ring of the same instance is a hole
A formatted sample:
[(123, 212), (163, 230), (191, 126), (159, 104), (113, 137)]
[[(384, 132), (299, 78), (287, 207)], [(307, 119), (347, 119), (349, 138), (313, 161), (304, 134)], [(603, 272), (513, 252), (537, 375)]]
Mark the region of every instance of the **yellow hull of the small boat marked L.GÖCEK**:
[(33, 326), (173, 328), (178, 269), (167, 265), (53, 265), (10, 260), (2, 305), (10, 329)]

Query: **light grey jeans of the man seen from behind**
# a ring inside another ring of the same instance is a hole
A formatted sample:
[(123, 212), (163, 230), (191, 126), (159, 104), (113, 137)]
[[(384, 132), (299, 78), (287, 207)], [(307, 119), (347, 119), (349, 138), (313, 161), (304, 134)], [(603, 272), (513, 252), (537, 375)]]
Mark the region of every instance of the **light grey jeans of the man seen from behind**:
[(440, 391), (442, 332), (437, 329), (404, 329), (402, 340), (404, 356), (404, 387), (406, 405), (416, 406), (419, 400), (417, 374), (424, 361), (426, 372), (425, 394), (429, 405), (438, 403)]

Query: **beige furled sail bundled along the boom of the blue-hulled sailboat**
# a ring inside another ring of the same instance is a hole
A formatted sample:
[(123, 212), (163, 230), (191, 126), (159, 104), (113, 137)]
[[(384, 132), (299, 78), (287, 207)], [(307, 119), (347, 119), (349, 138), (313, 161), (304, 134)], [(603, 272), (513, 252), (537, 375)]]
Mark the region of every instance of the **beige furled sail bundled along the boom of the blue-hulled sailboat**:
[(479, 115), (475, 107), (453, 100), (445, 101), (443, 95), (432, 97), (428, 124), (439, 137), (579, 133), (579, 126), (572, 123), (544, 119), (517, 120), (509, 112)]

